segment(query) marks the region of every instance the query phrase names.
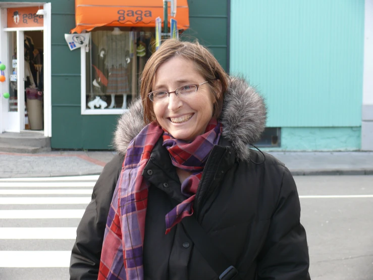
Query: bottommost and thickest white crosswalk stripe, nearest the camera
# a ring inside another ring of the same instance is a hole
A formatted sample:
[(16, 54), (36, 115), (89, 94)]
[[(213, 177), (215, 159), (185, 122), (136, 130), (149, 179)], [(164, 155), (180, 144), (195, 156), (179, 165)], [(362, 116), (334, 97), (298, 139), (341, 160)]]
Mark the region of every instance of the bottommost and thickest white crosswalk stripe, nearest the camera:
[(0, 267), (69, 267), (71, 251), (0, 251)]

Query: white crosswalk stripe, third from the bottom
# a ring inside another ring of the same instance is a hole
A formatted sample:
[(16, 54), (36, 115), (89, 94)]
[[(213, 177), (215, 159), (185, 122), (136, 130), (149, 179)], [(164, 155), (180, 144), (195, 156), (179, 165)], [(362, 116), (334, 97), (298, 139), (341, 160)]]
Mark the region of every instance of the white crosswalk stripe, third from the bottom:
[(0, 219), (81, 219), (84, 209), (0, 210)]

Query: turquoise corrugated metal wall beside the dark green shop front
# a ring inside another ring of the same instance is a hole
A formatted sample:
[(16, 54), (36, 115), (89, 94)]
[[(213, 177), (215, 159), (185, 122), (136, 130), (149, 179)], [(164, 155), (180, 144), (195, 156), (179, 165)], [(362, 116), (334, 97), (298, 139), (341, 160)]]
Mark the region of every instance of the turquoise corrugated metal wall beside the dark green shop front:
[(364, 0), (232, 0), (231, 73), (267, 98), (268, 126), (360, 126)]

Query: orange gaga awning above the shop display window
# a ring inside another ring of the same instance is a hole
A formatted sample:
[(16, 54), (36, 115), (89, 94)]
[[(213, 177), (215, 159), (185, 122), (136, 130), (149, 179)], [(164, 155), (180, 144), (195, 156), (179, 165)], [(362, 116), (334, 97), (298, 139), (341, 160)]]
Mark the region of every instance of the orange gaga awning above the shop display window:
[[(162, 0), (75, 0), (75, 5), (76, 27), (71, 33), (99, 26), (155, 27), (155, 19), (164, 18)], [(175, 19), (178, 29), (189, 28), (187, 0), (177, 0)]]

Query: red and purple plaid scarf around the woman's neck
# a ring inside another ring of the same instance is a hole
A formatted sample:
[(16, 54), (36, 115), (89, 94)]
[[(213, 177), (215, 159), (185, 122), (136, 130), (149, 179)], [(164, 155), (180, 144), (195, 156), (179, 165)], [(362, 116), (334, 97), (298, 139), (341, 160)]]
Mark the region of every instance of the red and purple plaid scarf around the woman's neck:
[(193, 201), (203, 167), (214, 145), (218, 144), (222, 126), (211, 119), (206, 132), (192, 143), (173, 138), (160, 126), (148, 124), (131, 141), (122, 172), (114, 191), (103, 237), (98, 280), (143, 280), (143, 244), (149, 183), (142, 179), (150, 153), (159, 137), (168, 149), (174, 166), (192, 173), (182, 183), (188, 198), (166, 215), (166, 233), (185, 216), (193, 214)]

